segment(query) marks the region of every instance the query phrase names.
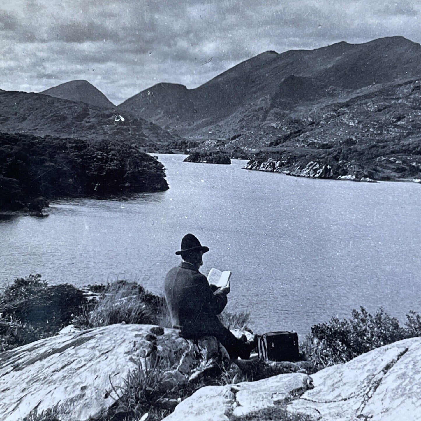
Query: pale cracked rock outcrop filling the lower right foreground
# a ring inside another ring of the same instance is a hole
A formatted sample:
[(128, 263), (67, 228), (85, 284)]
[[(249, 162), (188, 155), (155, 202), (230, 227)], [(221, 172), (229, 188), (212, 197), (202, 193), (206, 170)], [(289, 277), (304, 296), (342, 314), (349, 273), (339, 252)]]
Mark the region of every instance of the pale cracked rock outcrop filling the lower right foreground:
[(416, 421), (421, 414), (421, 338), (374, 349), (312, 376), (209, 386), (181, 402), (168, 421), (227, 421), (284, 405), (317, 421)]

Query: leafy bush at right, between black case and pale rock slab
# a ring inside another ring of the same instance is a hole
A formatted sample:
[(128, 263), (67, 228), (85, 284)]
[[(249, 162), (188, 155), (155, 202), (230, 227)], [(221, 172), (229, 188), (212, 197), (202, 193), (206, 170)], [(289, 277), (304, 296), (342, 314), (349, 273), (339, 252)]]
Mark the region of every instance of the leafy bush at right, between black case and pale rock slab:
[(322, 369), (347, 362), (380, 346), (421, 336), (420, 315), (411, 311), (406, 317), (405, 327), (381, 307), (374, 315), (361, 307), (360, 311), (352, 310), (350, 319), (332, 317), (329, 322), (312, 326), (302, 345), (302, 357)]

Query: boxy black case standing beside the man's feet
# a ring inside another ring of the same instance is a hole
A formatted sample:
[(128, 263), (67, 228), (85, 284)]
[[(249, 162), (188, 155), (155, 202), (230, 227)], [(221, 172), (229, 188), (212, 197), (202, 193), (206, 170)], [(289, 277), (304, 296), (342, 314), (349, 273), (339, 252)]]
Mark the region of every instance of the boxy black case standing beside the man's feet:
[(272, 361), (298, 361), (296, 332), (269, 332), (257, 337), (259, 358)]

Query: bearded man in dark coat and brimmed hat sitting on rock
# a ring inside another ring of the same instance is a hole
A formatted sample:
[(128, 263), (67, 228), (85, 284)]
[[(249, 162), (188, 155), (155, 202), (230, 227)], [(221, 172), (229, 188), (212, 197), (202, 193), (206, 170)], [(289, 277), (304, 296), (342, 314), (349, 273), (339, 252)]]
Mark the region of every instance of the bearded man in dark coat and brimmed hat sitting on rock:
[(181, 240), (181, 250), (176, 251), (183, 261), (165, 277), (165, 300), (170, 310), (174, 328), (186, 339), (215, 336), (232, 359), (250, 358), (255, 347), (245, 335), (236, 338), (218, 319), (227, 303), (230, 288), (210, 286), (205, 275), (199, 272), (203, 253), (209, 251), (193, 234)]

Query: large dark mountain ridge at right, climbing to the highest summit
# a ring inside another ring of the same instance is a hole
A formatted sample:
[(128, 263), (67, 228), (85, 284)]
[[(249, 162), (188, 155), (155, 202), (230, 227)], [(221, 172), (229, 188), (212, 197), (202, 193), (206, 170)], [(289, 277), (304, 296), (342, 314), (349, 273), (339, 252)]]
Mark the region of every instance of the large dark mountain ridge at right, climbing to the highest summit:
[(267, 51), (198, 88), (159, 83), (118, 108), (194, 139), (230, 138), (244, 126), (238, 123), (248, 118), (250, 107), (259, 116), (246, 127), (254, 132), (262, 121), (278, 121), (270, 120), (274, 108), (290, 112), (320, 99), (329, 104), (350, 91), (419, 75), (421, 46), (386, 37), (315, 50)]

